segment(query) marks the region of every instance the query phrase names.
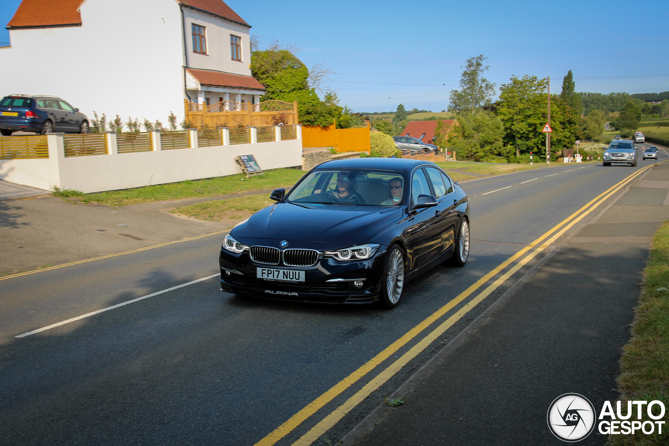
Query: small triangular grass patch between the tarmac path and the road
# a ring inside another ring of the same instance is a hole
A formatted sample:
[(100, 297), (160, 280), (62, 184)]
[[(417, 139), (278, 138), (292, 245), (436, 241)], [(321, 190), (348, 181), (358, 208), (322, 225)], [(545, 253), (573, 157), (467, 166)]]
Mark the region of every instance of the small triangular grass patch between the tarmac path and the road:
[(223, 221), (233, 225), (272, 203), (274, 201), (270, 200), (269, 194), (249, 195), (248, 197), (214, 200), (197, 205), (177, 207), (172, 212), (203, 220)]

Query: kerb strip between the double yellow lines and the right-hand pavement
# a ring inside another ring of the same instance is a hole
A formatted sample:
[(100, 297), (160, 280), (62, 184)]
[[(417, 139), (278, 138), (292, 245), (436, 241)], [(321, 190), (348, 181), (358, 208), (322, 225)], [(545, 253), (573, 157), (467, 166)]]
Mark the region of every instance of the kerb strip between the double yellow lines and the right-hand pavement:
[[(658, 162), (656, 164), (660, 163)], [(640, 177), (639, 179), (648, 175), (649, 172), (650, 169), (648, 169), (648, 171), (644, 173), (644, 175), (642, 175), (642, 177)], [(427, 378), (430, 374), (432, 374), (432, 372), (436, 368), (438, 368), (444, 361), (446, 361), (446, 359), (452, 352), (454, 352), (460, 345), (462, 345), (469, 338), (470, 335), (472, 335), (474, 332), (476, 332), (476, 330), (478, 330), (478, 328), (486, 324), (486, 322), (488, 322), (488, 319), (490, 319), (492, 314), (494, 314), (494, 312), (502, 308), (502, 306), (504, 306), (504, 304), (506, 304), (506, 302), (508, 302), (508, 300), (510, 300), (514, 296), (514, 294), (516, 294), (516, 292), (518, 292), (518, 290), (520, 290), (520, 288), (533, 275), (535, 275), (535, 273), (537, 272), (537, 270), (539, 270), (539, 268), (545, 265), (556, 253), (561, 251), (563, 247), (565, 247), (565, 245), (567, 245), (567, 243), (569, 243), (569, 241), (571, 241), (571, 239), (573, 239), (573, 237), (575, 237), (581, 231), (581, 229), (599, 220), (599, 218), (606, 211), (608, 211), (619, 199), (621, 199), (628, 192), (630, 187), (634, 185), (634, 183), (636, 183), (636, 181), (638, 181), (639, 179), (634, 180), (632, 183), (630, 183), (630, 185), (625, 187), (623, 191), (619, 193), (617, 197), (615, 197), (615, 199), (611, 200), (611, 203), (607, 204), (604, 207), (604, 209), (601, 212), (597, 213), (597, 215), (595, 215), (595, 217), (593, 217), (590, 221), (588, 221), (588, 223), (583, 223), (579, 225), (579, 227), (574, 229), (574, 231), (572, 231), (567, 237), (565, 237), (565, 239), (561, 241), (558, 245), (555, 245), (555, 247), (551, 247), (551, 249), (541, 260), (537, 261), (537, 263), (535, 263), (535, 265), (533, 265), (531, 269), (527, 271), (527, 273), (524, 273), (524, 275), (522, 275), (522, 277), (520, 277), (520, 279), (518, 279), (518, 281), (516, 281), (515, 284), (513, 284), (508, 290), (506, 290), (506, 292), (504, 292), (504, 294), (502, 294), (502, 296), (500, 296), (488, 308), (486, 308), (486, 310), (482, 314), (480, 314), (474, 321), (472, 321), (471, 324), (469, 324), (466, 328), (464, 328), (464, 330), (462, 330), (462, 332), (460, 332), (458, 336), (456, 336), (450, 342), (448, 342), (448, 344), (446, 344), (444, 348), (439, 350), (429, 361), (425, 362), (425, 364), (423, 364), (421, 368), (419, 368), (413, 375), (409, 377), (409, 379), (407, 379), (401, 386), (399, 386), (399, 388), (397, 388), (397, 390), (393, 392), (392, 395), (388, 397), (388, 399), (404, 399), (407, 395), (413, 393), (414, 389), (419, 384), (421, 384), (421, 382), (425, 378)], [(371, 413), (369, 413), (369, 415), (367, 415), (367, 417), (365, 417), (363, 421), (358, 423), (357, 426), (355, 426), (351, 431), (349, 431), (349, 433), (347, 433), (347, 435), (345, 435), (345, 437), (341, 439), (341, 443), (347, 446), (355, 445), (357, 441), (365, 437), (365, 435), (371, 433), (371, 431), (373, 431), (377, 423), (383, 421), (386, 415), (391, 413), (391, 411), (401, 410), (400, 408), (401, 406), (389, 407), (388, 405), (385, 405), (385, 403), (381, 403)]]

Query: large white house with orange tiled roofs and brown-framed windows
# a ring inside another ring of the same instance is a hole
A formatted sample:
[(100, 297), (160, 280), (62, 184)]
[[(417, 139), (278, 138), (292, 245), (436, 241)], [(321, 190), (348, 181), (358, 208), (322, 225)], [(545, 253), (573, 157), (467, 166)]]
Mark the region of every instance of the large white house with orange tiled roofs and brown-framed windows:
[(185, 99), (258, 104), (250, 27), (221, 0), (23, 0), (0, 47), (0, 97), (163, 124), (181, 122)]

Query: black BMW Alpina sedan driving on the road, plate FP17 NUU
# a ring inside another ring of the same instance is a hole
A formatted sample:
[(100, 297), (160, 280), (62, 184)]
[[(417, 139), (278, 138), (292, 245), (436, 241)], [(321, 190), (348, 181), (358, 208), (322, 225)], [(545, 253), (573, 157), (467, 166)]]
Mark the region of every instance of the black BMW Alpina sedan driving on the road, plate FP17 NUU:
[(397, 306), (407, 281), (469, 255), (466, 193), (432, 162), (324, 162), (236, 225), (219, 257), (224, 292)]

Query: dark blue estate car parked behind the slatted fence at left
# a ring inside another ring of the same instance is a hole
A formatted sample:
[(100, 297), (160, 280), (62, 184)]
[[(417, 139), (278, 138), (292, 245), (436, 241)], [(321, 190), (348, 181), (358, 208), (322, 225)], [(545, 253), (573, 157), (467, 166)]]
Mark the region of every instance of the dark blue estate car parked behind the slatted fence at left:
[(19, 130), (88, 133), (88, 116), (58, 96), (11, 94), (0, 99), (0, 134)]

